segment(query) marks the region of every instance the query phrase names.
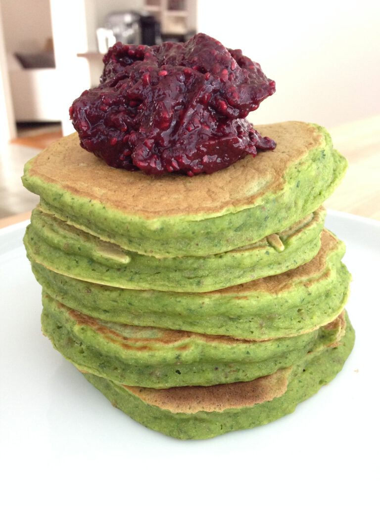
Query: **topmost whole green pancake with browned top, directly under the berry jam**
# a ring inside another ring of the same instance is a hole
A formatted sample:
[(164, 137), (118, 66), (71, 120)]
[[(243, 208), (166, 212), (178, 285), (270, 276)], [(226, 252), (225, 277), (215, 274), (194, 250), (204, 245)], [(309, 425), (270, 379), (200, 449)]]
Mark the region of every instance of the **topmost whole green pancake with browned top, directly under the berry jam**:
[(30, 160), (23, 184), (41, 196), (44, 212), (129, 251), (216, 255), (314, 212), (347, 167), (321, 126), (289, 121), (257, 128), (276, 140), (274, 151), (194, 178), (109, 167), (73, 134)]

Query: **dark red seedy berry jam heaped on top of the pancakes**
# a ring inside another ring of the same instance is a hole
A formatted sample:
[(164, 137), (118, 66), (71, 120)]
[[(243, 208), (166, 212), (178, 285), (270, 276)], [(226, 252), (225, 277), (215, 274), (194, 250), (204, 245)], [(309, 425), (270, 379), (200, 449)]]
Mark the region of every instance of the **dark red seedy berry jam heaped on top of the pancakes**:
[(185, 44), (115, 44), (100, 85), (74, 100), (81, 146), (113, 167), (211, 174), (276, 143), (244, 119), (275, 82), (240, 50), (199, 33)]

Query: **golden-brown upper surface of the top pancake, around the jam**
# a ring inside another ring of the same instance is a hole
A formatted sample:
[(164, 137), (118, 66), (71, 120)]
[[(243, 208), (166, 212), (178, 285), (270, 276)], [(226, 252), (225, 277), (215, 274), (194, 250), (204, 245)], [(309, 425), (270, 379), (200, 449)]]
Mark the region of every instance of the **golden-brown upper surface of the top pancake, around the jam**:
[(161, 216), (220, 215), (255, 205), (262, 192), (276, 193), (289, 165), (326, 144), (323, 129), (288, 121), (257, 126), (276, 140), (274, 151), (246, 156), (211, 175), (146, 176), (109, 167), (80, 147), (78, 135), (64, 137), (37, 155), (26, 167), (27, 178), (59, 186), (73, 196), (106, 203), (126, 215), (155, 219)]

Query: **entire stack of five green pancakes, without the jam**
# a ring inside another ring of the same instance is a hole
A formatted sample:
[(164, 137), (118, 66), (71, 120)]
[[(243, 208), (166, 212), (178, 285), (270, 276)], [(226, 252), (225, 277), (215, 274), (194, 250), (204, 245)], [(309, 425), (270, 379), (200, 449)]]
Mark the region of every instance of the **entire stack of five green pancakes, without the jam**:
[(290, 413), (354, 344), (344, 244), (321, 205), (346, 160), (318, 125), (211, 175), (107, 166), (77, 134), (25, 166), (43, 332), (113, 405), (180, 439)]

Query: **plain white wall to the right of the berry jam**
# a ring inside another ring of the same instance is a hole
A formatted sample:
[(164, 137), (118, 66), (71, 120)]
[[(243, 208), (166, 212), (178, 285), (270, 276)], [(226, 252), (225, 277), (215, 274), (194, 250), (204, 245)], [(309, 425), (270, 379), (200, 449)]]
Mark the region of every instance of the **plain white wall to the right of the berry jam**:
[(276, 81), (254, 123), (327, 127), (380, 113), (380, 3), (199, 0), (198, 30), (239, 48)]

